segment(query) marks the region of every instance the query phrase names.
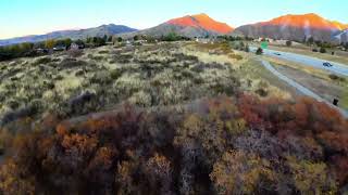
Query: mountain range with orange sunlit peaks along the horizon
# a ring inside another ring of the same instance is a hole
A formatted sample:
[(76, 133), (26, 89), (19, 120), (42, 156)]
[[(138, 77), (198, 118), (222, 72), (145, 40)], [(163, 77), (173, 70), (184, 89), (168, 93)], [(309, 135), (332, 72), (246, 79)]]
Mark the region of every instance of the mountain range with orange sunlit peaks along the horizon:
[(47, 35), (26, 36), (0, 40), (0, 46), (21, 42), (37, 42), (47, 39), (85, 39), (86, 37), (102, 37), (104, 35), (120, 35), (132, 38), (135, 35), (161, 37), (169, 32), (176, 32), (185, 37), (206, 37), (219, 35), (243, 35), (253, 38), (266, 37), (302, 41), (313, 37), (315, 40), (327, 42), (347, 42), (348, 24), (325, 20), (316, 14), (283, 15), (271, 21), (240, 26), (236, 29), (225, 23), (214, 21), (207, 14), (186, 15), (170, 20), (156, 27), (137, 30), (123, 25), (102, 25), (96, 28), (80, 30), (60, 30)]

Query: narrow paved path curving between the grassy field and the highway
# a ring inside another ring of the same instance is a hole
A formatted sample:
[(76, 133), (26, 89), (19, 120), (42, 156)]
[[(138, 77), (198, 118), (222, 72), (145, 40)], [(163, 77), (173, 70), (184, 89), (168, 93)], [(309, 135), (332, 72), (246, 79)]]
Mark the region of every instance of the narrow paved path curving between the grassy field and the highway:
[(346, 118), (348, 118), (348, 112), (345, 109), (341, 109), (339, 107), (334, 106), (331, 102), (327, 102), (326, 100), (322, 99), (321, 96), (319, 96), (318, 94), (315, 94), (314, 92), (312, 92), (311, 90), (307, 89), (306, 87), (299, 84), (298, 82), (289, 79), (288, 77), (284, 76), (283, 74), (281, 74), (279, 72), (277, 72), (269, 62), (261, 60), (262, 65), (269, 69), (273, 75), (275, 75), (276, 77), (278, 77), (279, 79), (282, 79), (283, 81), (287, 82), (289, 86), (296, 88), (299, 92), (301, 92), (302, 94), (307, 95), (307, 96), (311, 96), (313, 99), (315, 99), (319, 102), (325, 102), (327, 105), (330, 105), (332, 108), (337, 109), (339, 113), (343, 114), (343, 116), (345, 116)]

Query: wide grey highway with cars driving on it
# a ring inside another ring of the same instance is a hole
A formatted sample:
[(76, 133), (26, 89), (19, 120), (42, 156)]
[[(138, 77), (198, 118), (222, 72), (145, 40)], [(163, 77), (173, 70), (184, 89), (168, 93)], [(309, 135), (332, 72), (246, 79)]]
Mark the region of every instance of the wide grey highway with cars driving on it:
[[(250, 50), (256, 51), (257, 48), (250, 47)], [(320, 68), (320, 69), (325, 69), (325, 70), (332, 72), (337, 75), (348, 76), (348, 65), (344, 65), (344, 64), (339, 64), (339, 63), (335, 63), (335, 62), (328, 62), (325, 60), (315, 58), (315, 57), (311, 57), (311, 56), (307, 56), (307, 55), (300, 55), (300, 54), (281, 52), (281, 51), (268, 50), (268, 49), (263, 50), (263, 54), (270, 55), (273, 57), (277, 57), (281, 60), (287, 60), (287, 61), (291, 61), (295, 63), (300, 63), (300, 64), (312, 66), (312, 67)], [(328, 62), (334, 66), (325, 67), (325, 66), (323, 66), (324, 62)]]

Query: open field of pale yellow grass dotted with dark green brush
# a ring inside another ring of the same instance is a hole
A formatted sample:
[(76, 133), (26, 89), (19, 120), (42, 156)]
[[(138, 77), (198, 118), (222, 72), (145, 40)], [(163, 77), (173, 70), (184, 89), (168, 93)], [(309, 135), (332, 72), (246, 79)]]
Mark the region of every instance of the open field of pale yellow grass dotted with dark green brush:
[(52, 113), (66, 118), (112, 109), (124, 102), (179, 107), (238, 91), (290, 98), (251, 55), (232, 52), (226, 44), (107, 46), (2, 62), (0, 68), (2, 123)]

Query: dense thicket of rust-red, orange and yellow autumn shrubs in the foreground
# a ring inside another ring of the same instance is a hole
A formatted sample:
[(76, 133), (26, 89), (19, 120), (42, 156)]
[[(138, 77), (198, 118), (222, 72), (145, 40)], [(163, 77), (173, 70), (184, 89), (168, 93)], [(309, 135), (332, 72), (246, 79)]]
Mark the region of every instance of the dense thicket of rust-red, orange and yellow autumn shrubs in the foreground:
[[(47, 118), (11, 143), (4, 194), (345, 194), (347, 120), (310, 99)], [(40, 129), (40, 130), (38, 130)], [(54, 129), (48, 131), (47, 129)], [(9, 138), (1, 134), (1, 138)]]

